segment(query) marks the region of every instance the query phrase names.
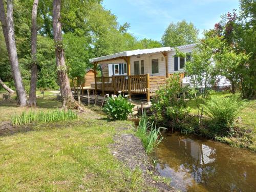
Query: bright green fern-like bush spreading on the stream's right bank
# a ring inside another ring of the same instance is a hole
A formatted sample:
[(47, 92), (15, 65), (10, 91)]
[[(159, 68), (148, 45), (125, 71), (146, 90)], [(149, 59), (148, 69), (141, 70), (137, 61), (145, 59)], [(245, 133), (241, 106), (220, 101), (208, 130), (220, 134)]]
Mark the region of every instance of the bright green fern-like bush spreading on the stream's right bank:
[(211, 118), (209, 129), (214, 134), (225, 136), (232, 132), (239, 112), (244, 108), (245, 102), (237, 96), (211, 98), (201, 104), (205, 113)]

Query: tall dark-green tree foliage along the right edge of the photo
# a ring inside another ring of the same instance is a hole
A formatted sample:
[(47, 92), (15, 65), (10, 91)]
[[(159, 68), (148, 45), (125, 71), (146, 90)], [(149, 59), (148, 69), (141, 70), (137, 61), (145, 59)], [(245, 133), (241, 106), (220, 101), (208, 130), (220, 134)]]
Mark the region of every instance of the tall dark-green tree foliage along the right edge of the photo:
[(240, 0), (239, 14), (236, 10), (222, 15), (215, 25), (217, 35), (223, 36), (228, 46), (237, 55), (248, 55), (247, 62), (240, 62), (232, 73), (239, 77), (243, 98), (253, 98), (256, 94), (256, 2)]

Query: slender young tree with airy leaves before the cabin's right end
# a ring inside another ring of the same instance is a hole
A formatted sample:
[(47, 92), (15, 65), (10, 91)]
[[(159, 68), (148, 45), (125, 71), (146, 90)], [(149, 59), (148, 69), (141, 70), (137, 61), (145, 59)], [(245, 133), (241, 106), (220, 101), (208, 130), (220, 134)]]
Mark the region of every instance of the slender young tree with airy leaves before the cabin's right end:
[(214, 60), (214, 53), (219, 51), (220, 44), (219, 37), (212, 37), (211, 32), (205, 32), (205, 38), (200, 40), (196, 49), (191, 53), (190, 61), (185, 65), (185, 72), (192, 86), (190, 93), (195, 96), (197, 102), (200, 127), (204, 108), (200, 108), (199, 99), (204, 103), (221, 74)]

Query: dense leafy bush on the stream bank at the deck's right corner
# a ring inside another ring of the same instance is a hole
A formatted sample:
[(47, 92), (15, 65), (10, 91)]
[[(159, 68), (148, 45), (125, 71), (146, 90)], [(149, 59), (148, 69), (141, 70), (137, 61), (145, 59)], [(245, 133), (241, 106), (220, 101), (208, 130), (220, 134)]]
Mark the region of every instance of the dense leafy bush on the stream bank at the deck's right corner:
[(179, 123), (190, 111), (186, 108), (186, 102), (182, 97), (185, 90), (186, 88), (180, 85), (179, 74), (174, 74), (163, 87), (156, 91), (152, 110), (158, 122), (173, 129), (178, 128)]

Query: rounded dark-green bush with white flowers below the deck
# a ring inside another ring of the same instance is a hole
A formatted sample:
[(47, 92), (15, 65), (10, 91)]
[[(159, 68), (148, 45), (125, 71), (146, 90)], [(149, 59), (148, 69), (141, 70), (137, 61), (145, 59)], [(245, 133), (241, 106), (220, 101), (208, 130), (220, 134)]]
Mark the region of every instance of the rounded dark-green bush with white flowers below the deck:
[(128, 101), (128, 97), (109, 97), (103, 111), (113, 120), (126, 120), (128, 115), (133, 112), (134, 104)]

